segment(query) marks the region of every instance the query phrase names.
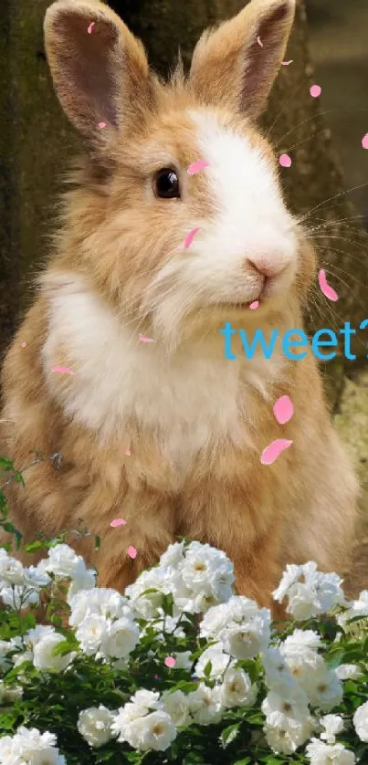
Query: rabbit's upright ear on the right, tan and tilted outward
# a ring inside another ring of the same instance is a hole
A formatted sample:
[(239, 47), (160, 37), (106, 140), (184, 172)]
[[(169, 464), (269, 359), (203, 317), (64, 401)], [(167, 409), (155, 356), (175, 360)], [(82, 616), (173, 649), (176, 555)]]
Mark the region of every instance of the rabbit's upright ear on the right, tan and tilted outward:
[(257, 119), (266, 107), (294, 20), (295, 0), (251, 0), (195, 47), (190, 79), (205, 103)]

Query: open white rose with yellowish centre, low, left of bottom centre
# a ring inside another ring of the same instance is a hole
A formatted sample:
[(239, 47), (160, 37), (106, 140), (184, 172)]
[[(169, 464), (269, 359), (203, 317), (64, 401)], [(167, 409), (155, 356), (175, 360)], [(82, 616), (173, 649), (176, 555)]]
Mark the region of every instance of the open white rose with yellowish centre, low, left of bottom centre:
[(119, 740), (128, 741), (131, 747), (138, 751), (147, 751), (148, 749), (164, 751), (170, 747), (176, 735), (172, 718), (159, 709), (143, 718), (132, 720), (124, 729)]

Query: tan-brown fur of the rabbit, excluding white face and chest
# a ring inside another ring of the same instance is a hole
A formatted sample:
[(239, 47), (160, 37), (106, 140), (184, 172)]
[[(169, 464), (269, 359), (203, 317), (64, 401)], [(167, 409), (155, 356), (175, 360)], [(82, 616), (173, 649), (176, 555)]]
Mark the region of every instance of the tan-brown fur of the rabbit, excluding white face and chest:
[[(37, 300), (5, 359), (0, 452), (14, 458), (18, 468), (32, 459), (35, 450), (44, 456), (57, 451), (62, 454), (59, 471), (49, 462), (41, 463), (26, 472), (26, 487), (9, 487), (12, 518), (26, 540), (37, 538), (39, 531), (53, 536), (75, 529), (81, 520), (92, 535), (100, 535), (102, 546), (95, 553), (90, 538), (76, 540), (73, 546), (97, 566), (101, 586), (123, 590), (142, 568), (157, 561), (179, 534), (226, 550), (235, 562), (238, 592), (262, 604), (270, 603), (270, 592), (287, 562), (315, 560), (321, 569), (342, 571), (349, 556), (355, 520), (355, 479), (332, 429), (320, 373), (312, 357), (289, 362), (282, 377), (268, 383), (266, 395), (241, 379), (237, 406), (239, 419), (247, 428), (246, 445), (236, 445), (231, 438), (220, 442), (216, 437), (209, 439), (183, 477), (163, 454), (154, 427), (142, 427), (138, 417), (117, 422), (112, 434), (101, 437), (98, 430), (68, 413), (68, 397), (73, 386), (79, 384), (82, 367), (61, 334), (52, 351), (52, 363), (70, 366), (75, 374), (48, 373), (42, 356), (51, 331), (53, 296), (65, 287), (66, 274), (87, 279), (91, 292), (100, 296), (103, 305), (121, 320), (128, 325), (131, 322), (133, 332), (152, 331), (154, 310), (152, 305), (147, 307), (142, 296), (159, 268), (170, 260), (174, 248), (181, 246), (191, 217), (209, 219), (215, 214), (205, 174), (197, 176), (195, 193), (186, 192), (185, 207), (177, 200), (170, 203), (170, 218), (167, 201), (147, 195), (147, 179), (155, 169), (168, 166), (168, 157), (184, 168), (197, 159), (188, 109), (200, 107), (205, 111), (216, 100), (215, 91), (224, 92), (223, 102), (216, 103), (217, 119), (244, 132), (249, 141), (262, 147), (278, 183), (273, 152), (250, 124), (247, 111), (242, 111), (244, 66), (234, 70), (231, 56), (237, 59), (241, 40), (247, 41), (244, 26), (248, 26), (251, 40), (242, 52), (250, 66), (258, 30), (265, 37), (264, 45), (267, 39), (272, 45), (275, 41), (279, 44), (266, 59), (274, 69), (274, 77), (292, 15), (292, 0), (253, 0), (237, 19), (227, 23), (230, 26), (224, 25), (222, 31), (214, 33), (222, 37), (222, 47), (215, 46), (216, 61), (212, 60), (211, 37), (205, 37), (195, 53), (192, 79), (185, 83), (177, 75), (171, 84), (163, 85), (149, 75), (140, 44), (97, 0), (74, 4), (60, 0), (47, 14), (47, 55), (58, 96), (69, 117), (86, 135), (89, 152), (74, 176), (78, 187), (66, 196), (55, 252), (40, 279)], [(106, 83), (93, 79), (96, 62), (83, 52), (89, 44), (83, 29), (93, 19), (93, 51), (99, 66), (103, 68), (106, 61), (112, 61), (115, 67), (109, 69)], [(278, 19), (282, 22), (279, 37), (275, 31)], [(231, 47), (234, 29), (236, 51)], [(111, 50), (106, 40), (112, 41)], [(226, 48), (237, 97), (241, 93), (237, 112), (235, 101), (229, 110), (228, 69), (226, 87), (218, 79), (219, 61), (226, 58)], [(82, 49), (81, 60), (87, 72), (91, 71), (88, 85), (81, 74), (82, 65), (74, 66), (77, 49)], [(248, 98), (257, 81), (265, 79), (263, 65), (260, 71), (258, 66), (248, 80)], [(119, 103), (112, 72), (122, 77)], [(260, 89), (257, 111), (264, 106), (273, 79), (269, 73), (267, 77)], [(208, 84), (208, 106), (204, 103), (204, 83)], [(106, 98), (110, 98), (109, 110), (105, 111), (109, 129), (99, 131), (96, 126), (104, 116)], [(183, 183), (189, 182), (184, 178)], [(298, 272), (286, 299), (287, 307), (275, 303), (266, 329), (302, 326), (301, 304), (313, 273), (314, 254), (300, 230)], [(179, 348), (171, 351), (168, 347), (168, 352), (188, 352), (188, 337), (191, 341), (200, 339), (205, 331), (216, 335), (224, 316), (219, 312), (218, 317), (214, 314), (208, 320), (208, 311), (201, 310), (193, 320), (188, 317), (184, 322)], [(244, 324), (244, 316), (239, 318), (237, 309), (232, 319), (234, 326)], [(58, 337), (58, 328), (55, 331)], [(214, 341), (208, 353), (211, 358), (229, 363), (223, 359), (223, 342), (217, 337), (218, 342)], [(24, 341), (26, 348), (22, 349)], [(149, 351), (151, 347), (147, 347)], [(106, 375), (110, 372), (107, 369)], [(296, 414), (289, 424), (279, 425), (271, 404), (287, 393)], [(292, 439), (292, 447), (274, 465), (262, 466), (262, 450), (278, 437)], [(124, 456), (127, 445), (131, 448), (130, 458)], [(110, 520), (116, 517), (126, 519), (127, 525), (110, 529)], [(126, 555), (128, 545), (138, 550), (135, 561)]]

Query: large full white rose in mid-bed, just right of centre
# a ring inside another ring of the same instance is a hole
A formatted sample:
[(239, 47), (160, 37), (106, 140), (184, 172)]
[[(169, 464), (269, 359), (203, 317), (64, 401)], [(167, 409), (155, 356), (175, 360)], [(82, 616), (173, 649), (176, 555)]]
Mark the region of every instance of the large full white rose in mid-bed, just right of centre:
[(216, 638), (237, 659), (251, 659), (268, 648), (270, 613), (243, 596), (210, 608), (200, 627), (203, 637)]

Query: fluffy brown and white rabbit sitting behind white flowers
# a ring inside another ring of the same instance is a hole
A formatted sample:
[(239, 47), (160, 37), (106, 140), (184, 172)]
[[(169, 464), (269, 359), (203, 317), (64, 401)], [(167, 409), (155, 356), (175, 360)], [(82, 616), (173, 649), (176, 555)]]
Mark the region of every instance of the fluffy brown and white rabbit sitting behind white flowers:
[[(26, 540), (80, 519), (102, 540), (98, 553), (92, 537), (76, 541), (101, 586), (122, 590), (184, 535), (225, 550), (238, 592), (268, 604), (287, 562), (342, 571), (351, 549), (355, 478), (311, 351), (289, 361), (278, 341), (270, 359), (247, 360), (234, 335), (230, 361), (219, 331), (301, 328), (314, 278), (257, 128), (294, 10), (252, 0), (169, 83), (107, 5), (47, 10), (49, 66), (86, 154), (5, 358), (1, 452), (18, 467), (33, 451), (62, 454), (59, 471), (26, 471), (11, 514)], [(288, 424), (272, 411), (281, 395)], [(292, 445), (262, 465), (276, 438)], [(115, 518), (127, 524), (110, 528)]]

